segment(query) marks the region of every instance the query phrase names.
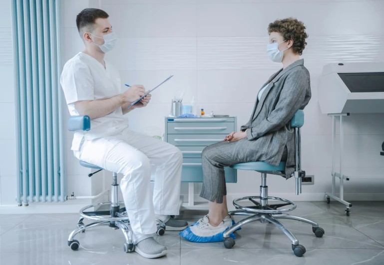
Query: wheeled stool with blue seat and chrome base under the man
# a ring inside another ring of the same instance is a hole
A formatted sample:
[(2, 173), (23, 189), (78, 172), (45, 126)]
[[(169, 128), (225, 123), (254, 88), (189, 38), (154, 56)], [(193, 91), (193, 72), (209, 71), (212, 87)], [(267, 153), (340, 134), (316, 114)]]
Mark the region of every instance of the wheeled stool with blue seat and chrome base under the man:
[[(72, 116), (68, 119), (67, 127), (69, 131), (89, 131), (90, 130), (90, 118), (89, 116)], [(103, 170), (98, 166), (89, 164), (85, 161), (80, 161), (80, 165), (86, 168), (98, 169), (94, 173), (88, 174), (88, 177), (91, 177), (93, 174), (96, 174)], [(72, 231), (68, 238), (68, 246), (71, 250), (75, 251), (79, 248), (80, 243), (77, 240), (74, 240), (74, 237), (85, 230), (98, 227), (98, 226), (109, 226), (112, 229), (121, 229), (125, 237), (125, 243), (123, 249), (125, 253), (130, 253), (134, 251), (134, 245), (132, 240), (132, 231), (130, 229), (129, 219), (125, 207), (120, 208), (120, 204), (124, 204), (123, 201), (119, 201), (119, 185), (117, 184), (117, 173), (113, 172), (113, 182), (111, 185), (111, 201), (103, 202), (97, 204), (91, 204), (83, 207), (80, 210), (80, 219), (77, 221), (77, 228)], [(100, 207), (110, 205), (110, 210), (108, 211), (94, 211), (94, 212), (85, 212), (85, 210), (94, 207)], [(88, 225), (84, 225), (83, 220), (94, 221)], [(165, 232), (165, 224), (161, 220), (157, 221), (157, 235), (162, 236)]]

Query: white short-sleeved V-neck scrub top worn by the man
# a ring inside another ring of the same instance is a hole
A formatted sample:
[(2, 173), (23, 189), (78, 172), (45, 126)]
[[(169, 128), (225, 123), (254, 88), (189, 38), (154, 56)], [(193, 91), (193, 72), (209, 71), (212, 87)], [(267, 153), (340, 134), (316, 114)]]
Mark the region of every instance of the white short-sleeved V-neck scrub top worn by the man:
[[(105, 68), (92, 56), (79, 52), (64, 65), (60, 83), (71, 116), (79, 115), (74, 102), (107, 99), (123, 92), (119, 72), (106, 60)], [(72, 150), (78, 151), (83, 138), (112, 136), (128, 127), (128, 119), (117, 108), (104, 117), (91, 120), (89, 131), (76, 131)]]

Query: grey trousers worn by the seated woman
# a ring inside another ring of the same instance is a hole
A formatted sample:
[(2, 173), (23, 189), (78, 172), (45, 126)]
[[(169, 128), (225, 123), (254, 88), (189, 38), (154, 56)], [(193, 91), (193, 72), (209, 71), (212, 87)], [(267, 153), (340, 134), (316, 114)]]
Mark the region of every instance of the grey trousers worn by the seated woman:
[[(237, 155), (237, 141), (219, 142), (204, 148), (201, 154), (203, 166), (203, 188), (200, 197), (211, 202), (223, 203), (223, 196), (227, 195), (225, 184), (224, 167), (238, 163), (252, 162)], [(285, 147), (282, 161), (286, 161), (288, 156)]]

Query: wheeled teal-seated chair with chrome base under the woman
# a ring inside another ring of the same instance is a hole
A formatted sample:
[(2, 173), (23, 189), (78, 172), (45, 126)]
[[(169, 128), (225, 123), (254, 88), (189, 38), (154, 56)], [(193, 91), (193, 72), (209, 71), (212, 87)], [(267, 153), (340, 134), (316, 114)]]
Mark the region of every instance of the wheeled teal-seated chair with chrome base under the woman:
[[(296, 180), (296, 195), (299, 195), (301, 193), (301, 179), (305, 177), (305, 171), (301, 170), (301, 127), (304, 125), (304, 111), (298, 110), (295, 114), (295, 116), (291, 120), (291, 127), (295, 128), (295, 163), (296, 168), (295, 172), (293, 173), (293, 176)], [(240, 163), (233, 165), (232, 167), (234, 169), (241, 169), (241, 170), (254, 170), (261, 173), (261, 186), (260, 186), (260, 196), (249, 196), (249, 197), (243, 197), (238, 198), (233, 201), (233, 205), (236, 209), (240, 209), (241, 211), (233, 211), (229, 214), (231, 216), (233, 215), (241, 215), (241, 216), (248, 216), (247, 218), (239, 221), (236, 225), (230, 227), (227, 231), (224, 232), (223, 235), (223, 242), (224, 246), (227, 249), (232, 248), (235, 245), (235, 240), (230, 238), (229, 235), (231, 233), (235, 232), (238, 228), (242, 227), (245, 224), (248, 224), (250, 222), (254, 221), (260, 221), (261, 223), (272, 223), (275, 226), (277, 226), (281, 231), (284, 232), (284, 234), (287, 235), (287, 237), (292, 242), (292, 250), (294, 251), (295, 255), (297, 257), (302, 257), (306, 253), (306, 249), (304, 246), (299, 245), (299, 241), (297, 238), (278, 220), (278, 219), (290, 219), (290, 220), (296, 220), (308, 223), (312, 225), (312, 231), (315, 233), (316, 237), (321, 238), (324, 235), (324, 230), (319, 227), (319, 225), (313, 221), (297, 217), (297, 216), (291, 216), (286, 214), (287, 212), (293, 211), (296, 209), (296, 204), (292, 201), (277, 198), (277, 197), (269, 197), (268, 196), (268, 186), (267, 186), (267, 172), (270, 171), (285, 171), (285, 164), (286, 162), (280, 162), (280, 164), (275, 167), (273, 165), (270, 165), (266, 162), (248, 162), (248, 163)], [(255, 201), (254, 199), (259, 199), (259, 202)], [(238, 204), (238, 202), (248, 200), (255, 204), (255, 206), (248, 206), (244, 207)], [(280, 204), (268, 204), (268, 200), (276, 200), (280, 201), (282, 203)], [(279, 209), (283, 206), (291, 207), (288, 209)]]

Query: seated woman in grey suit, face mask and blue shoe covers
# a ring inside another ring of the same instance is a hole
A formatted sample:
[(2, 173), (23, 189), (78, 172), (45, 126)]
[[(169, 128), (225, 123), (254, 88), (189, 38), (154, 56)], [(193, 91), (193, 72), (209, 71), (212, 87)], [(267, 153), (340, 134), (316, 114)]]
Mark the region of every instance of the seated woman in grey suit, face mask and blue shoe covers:
[(200, 197), (209, 200), (209, 214), (180, 233), (193, 242), (222, 241), (223, 232), (232, 226), (228, 214), (224, 167), (237, 163), (265, 161), (277, 166), (286, 162), (285, 172), (294, 172), (295, 138), (290, 120), (304, 109), (311, 98), (310, 74), (300, 59), (308, 37), (304, 23), (296, 18), (269, 24), (267, 53), (283, 68), (260, 89), (247, 124), (223, 142), (206, 147), (202, 153), (204, 181)]

